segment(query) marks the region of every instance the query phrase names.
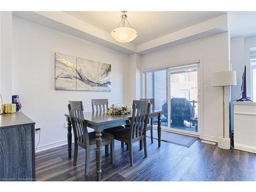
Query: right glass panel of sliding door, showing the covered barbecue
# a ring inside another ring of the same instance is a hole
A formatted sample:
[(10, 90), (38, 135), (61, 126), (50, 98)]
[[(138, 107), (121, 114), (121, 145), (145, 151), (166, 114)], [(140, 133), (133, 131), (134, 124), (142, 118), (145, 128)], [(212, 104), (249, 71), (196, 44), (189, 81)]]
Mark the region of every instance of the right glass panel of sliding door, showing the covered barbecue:
[(170, 69), (169, 124), (171, 129), (198, 132), (198, 68)]

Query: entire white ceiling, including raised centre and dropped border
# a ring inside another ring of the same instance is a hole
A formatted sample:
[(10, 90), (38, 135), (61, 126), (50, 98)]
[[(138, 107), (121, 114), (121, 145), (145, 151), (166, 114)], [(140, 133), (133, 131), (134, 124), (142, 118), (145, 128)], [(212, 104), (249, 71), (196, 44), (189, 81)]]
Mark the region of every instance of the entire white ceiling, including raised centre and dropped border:
[(127, 12), (128, 20), (138, 31), (138, 37), (125, 44), (111, 36), (121, 20), (118, 11), (14, 11), (13, 15), (129, 55), (150, 53), (227, 31), (231, 37), (256, 35), (256, 12), (131, 11)]

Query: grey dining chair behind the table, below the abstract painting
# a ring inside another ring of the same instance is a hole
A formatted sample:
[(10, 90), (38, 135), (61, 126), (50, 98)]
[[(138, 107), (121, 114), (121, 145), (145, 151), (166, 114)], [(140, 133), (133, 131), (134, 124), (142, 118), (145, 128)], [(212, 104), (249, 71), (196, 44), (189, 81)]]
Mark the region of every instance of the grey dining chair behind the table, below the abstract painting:
[[(105, 112), (109, 108), (109, 99), (92, 99), (92, 111), (93, 112)], [(108, 129), (104, 129), (105, 133), (111, 134), (113, 131), (123, 129), (123, 126), (115, 126), (110, 127)], [(123, 146), (123, 142), (121, 142), (121, 146)], [(105, 145), (105, 155), (109, 153), (109, 145)]]

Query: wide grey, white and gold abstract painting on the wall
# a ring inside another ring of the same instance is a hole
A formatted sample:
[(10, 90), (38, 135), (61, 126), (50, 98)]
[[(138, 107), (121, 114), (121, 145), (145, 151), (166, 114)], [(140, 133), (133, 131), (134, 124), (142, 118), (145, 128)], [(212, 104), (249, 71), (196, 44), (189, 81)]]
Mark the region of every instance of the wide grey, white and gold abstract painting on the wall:
[(111, 91), (111, 65), (55, 53), (55, 89)]

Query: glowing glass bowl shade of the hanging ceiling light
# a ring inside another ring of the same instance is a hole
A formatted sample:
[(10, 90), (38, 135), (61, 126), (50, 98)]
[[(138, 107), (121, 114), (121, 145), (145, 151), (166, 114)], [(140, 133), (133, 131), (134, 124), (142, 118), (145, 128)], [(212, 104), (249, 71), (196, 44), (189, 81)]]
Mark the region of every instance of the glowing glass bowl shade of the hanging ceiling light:
[(119, 27), (111, 32), (114, 39), (119, 42), (130, 42), (137, 37), (137, 31), (130, 27)]

